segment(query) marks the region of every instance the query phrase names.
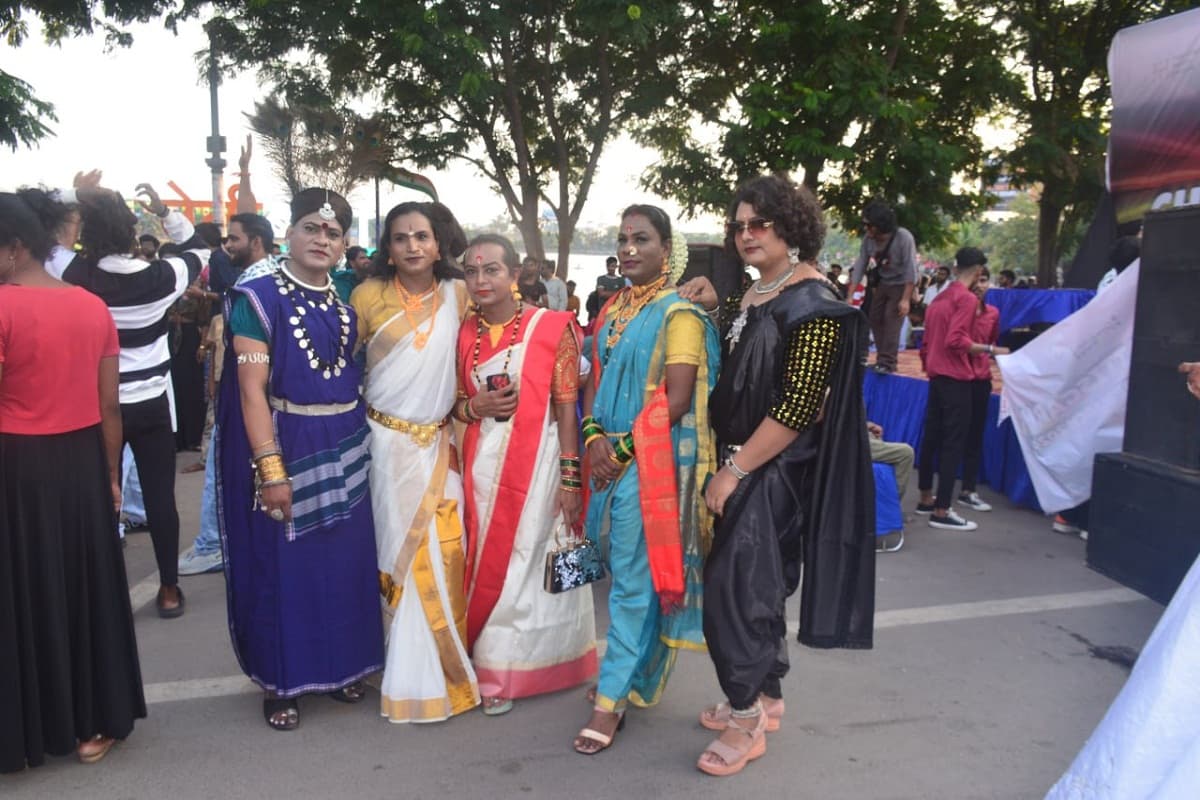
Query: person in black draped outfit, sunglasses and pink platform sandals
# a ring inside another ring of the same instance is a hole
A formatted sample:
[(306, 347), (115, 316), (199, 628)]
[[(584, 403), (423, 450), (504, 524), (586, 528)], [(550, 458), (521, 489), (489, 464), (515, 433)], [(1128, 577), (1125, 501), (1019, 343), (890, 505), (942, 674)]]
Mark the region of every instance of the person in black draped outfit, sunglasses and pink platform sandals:
[[(785, 601), (800, 585), (799, 640), (870, 648), (875, 483), (863, 407), (868, 324), (816, 266), (816, 198), (756, 178), (730, 205), (726, 247), (760, 278), (726, 300), (721, 373), (709, 410), (721, 468), (704, 492), (716, 515), (704, 565), (704, 638), (727, 702), (701, 724), (724, 730), (697, 766), (731, 775), (766, 752), (784, 714)], [(712, 284), (680, 296), (716, 311)]]

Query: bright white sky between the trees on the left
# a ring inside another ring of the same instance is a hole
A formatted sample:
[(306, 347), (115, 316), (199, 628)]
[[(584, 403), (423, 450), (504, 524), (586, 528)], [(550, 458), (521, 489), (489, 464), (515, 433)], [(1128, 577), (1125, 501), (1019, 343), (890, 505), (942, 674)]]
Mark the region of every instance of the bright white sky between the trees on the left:
[[(145, 181), (163, 199), (176, 194), (167, 186), (178, 184), (196, 199), (210, 199), (212, 179), (205, 160), (205, 140), (211, 132), (209, 89), (200, 80), (196, 54), (206, 38), (200, 22), (181, 24), (175, 36), (161, 24), (133, 25), (131, 48), (104, 52), (102, 36), (47, 46), (41, 28), (30, 20), (30, 36), (19, 47), (0, 46), (0, 68), (34, 85), (36, 95), (54, 104), (59, 121), (55, 136), (32, 150), (0, 151), (0, 188), (26, 185), (70, 186), (76, 172), (100, 168), (104, 185), (130, 197)], [(239, 146), (250, 133), (244, 113), (264, 95), (252, 73), (227, 74), (220, 90), (221, 133), (227, 139), (226, 187), (236, 182)], [(286, 223), (287, 192), (256, 149), (251, 166), (254, 194), (272, 223)], [(628, 138), (610, 143), (596, 170), (581, 224), (616, 224), (620, 209), (631, 203), (654, 203), (672, 218), (677, 204), (637, 187), (638, 178), (655, 156)], [(464, 223), (485, 224), (505, 213), (504, 201), (468, 164), (445, 170), (418, 169), (438, 187), (438, 193)], [(409, 190), (389, 191), (384, 185), (380, 206), (421, 199)], [(364, 186), (349, 198), (360, 218), (373, 216), (374, 194)], [(386, 211), (384, 211), (386, 212)], [(682, 221), (688, 230), (718, 228), (715, 218)]]

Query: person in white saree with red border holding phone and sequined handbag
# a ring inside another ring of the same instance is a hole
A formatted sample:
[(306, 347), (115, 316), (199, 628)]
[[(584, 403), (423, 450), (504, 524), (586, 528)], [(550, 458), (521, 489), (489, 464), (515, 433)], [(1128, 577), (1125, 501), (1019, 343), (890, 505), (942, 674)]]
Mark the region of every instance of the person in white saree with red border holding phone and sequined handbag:
[(592, 588), (550, 594), (546, 555), (578, 524), (580, 330), (568, 312), (521, 301), (508, 239), (463, 255), (475, 311), (458, 332), (467, 523), (467, 648), (484, 712), (596, 674)]

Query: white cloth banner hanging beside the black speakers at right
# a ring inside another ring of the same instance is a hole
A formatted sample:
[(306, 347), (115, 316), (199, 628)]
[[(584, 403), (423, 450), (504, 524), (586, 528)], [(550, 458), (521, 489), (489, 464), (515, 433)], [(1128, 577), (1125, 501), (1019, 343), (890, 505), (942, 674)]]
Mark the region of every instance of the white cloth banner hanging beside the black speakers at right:
[(1012, 416), (1048, 512), (1087, 500), (1096, 453), (1121, 451), (1139, 270), (1134, 261), (1090, 303), (996, 359), (1000, 421)]

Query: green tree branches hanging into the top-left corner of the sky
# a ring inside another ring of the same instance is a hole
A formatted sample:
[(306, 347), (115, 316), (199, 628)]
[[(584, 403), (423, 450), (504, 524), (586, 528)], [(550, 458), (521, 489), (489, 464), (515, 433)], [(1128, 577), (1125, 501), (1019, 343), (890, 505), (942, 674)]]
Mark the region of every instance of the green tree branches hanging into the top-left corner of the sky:
[[(173, 0), (66, 0), (65, 2), (7, 2), (0, 5), (0, 38), (20, 47), (29, 36), (30, 17), (37, 18), (46, 41), (56, 43), (67, 36), (103, 32), (109, 47), (133, 42), (125, 25), (160, 17), (175, 6)], [(174, 30), (176, 17), (168, 17)], [(13, 150), (31, 148), (53, 136), (46, 124), (56, 121), (54, 106), (40, 100), (34, 86), (0, 70), (0, 144)]]

